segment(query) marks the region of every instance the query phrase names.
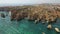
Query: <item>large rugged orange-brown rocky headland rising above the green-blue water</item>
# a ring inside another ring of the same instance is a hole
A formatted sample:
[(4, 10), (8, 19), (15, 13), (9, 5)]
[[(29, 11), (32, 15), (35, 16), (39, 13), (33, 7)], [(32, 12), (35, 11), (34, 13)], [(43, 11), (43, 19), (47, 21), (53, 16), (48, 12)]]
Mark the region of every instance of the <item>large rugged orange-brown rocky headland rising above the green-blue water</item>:
[(52, 7), (56, 8), (56, 6), (29, 6), (23, 9), (13, 10), (11, 18), (15, 20), (28, 18), (28, 20), (54, 22), (57, 17), (60, 18), (60, 11), (58, 10), (60, 8), (55, 9)]

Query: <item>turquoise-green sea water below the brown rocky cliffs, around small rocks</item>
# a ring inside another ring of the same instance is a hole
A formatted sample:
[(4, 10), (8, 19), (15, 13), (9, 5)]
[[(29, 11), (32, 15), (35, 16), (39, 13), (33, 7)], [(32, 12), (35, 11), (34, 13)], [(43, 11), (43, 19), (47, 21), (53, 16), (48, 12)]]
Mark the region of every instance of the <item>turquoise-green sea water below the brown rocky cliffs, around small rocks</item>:
[[(1, 13), (1, 12), (0, 12)], [(6, 12), (4, 12), (6, 14)], [(21, 21), (10, 21), (10, 17), (6, 18), (0, 17), (0, 34), (60, 34), (54, 30), (54, 27), (60, 28), (60, 19), (57, 20), (57, 23), (52, 23), (52, 29), (47, 29), (48, 24), (34, 24), (34, 21), (28, 21), (23, 19)]]

